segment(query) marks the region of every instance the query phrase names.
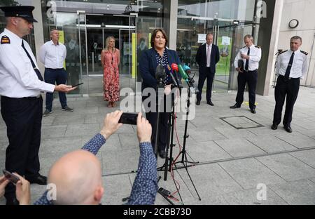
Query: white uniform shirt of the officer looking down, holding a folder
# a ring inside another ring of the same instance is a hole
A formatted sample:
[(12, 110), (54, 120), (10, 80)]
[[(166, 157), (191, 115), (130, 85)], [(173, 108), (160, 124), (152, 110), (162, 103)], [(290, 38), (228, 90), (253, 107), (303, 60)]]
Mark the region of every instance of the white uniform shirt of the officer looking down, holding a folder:
[[(259, 61), (261, 58), (261, 48), (258, 48), (255, 45), (251, 45), (250, 48), (251, 48), (251, 50), (249, 53), (248, 71), (255, 71), (255, 69), (258, 69), (258, 67), (259, 67)], [(235, 60), (234, 60), (234, 66), (235, 67), (238, 67), (238, 62), (240, 59), (242, 59), (241, 53), (244, 55), (247, 55), (247, 52), (248, 52), (247, 46), (245, 46), (239, 50), (239, 53), (237, 53), (237, 56), (235, 57)], [(243, 61), (244, 61), (244, 68), (245, 68), (246, 59), (244, 58)]]

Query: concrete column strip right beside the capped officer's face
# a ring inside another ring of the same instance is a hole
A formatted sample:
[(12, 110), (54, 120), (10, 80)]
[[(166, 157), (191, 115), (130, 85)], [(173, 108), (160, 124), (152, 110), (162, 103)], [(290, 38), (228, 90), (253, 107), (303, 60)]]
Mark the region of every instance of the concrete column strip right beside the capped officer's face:
[(34, 22), (34, 37), (35, 37), (35, 49), (36, 49), (36, 60), (41, 74), (45, 71), (45, 66), (39, 61), (39, 50), (44, 44), (43, 39), (43, 18), (41, 12), (41, 1), (33, 0), (32, 6), (34, 6), (33, 16), (38, 22)]

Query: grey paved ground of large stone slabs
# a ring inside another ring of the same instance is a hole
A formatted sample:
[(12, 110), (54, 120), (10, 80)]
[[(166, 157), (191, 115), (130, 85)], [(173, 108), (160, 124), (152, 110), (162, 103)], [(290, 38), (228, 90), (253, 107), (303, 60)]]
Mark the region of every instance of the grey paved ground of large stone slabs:
[[(188, 161), (200, 164), (189, 167), (188, 172), (184, 168), (174, 171), (184, 204), (315, 204), (315, 89), (301, 87), (293, 113), (293, 133), (286, 133), (282, 126), (276, 131), (270, 129), (273, 93), (257, 96), (257, 114), (251, 114), (246, 105), (230, 110), (229, 106), (235, 103), (235, 92), (214, 94), (215, 107), (206, 105), (203, 98), (195, 119), (188, 122), (186, 144)], [(247, 101), (248, 94), (245, 95)], [(68, 104), (74, 107), (74, 112), (62, 112), (55, 100), (54, 112), (43, 118), (39, 154), (43, 175), (47, 175), (53, 162), (63, 154), (82, 147), (102, 128), (104, 115), (113, 110), (106, 107), (102, 97), (68, 98)], [(259, 125), (262, 127), (250, 128)], [(179, 114), (176, 130), (181, 144), (184, 127)], [(179, 144), (175, 143), (174, 154), (178, 154)], [(0, 119), (1, 169), (7, 145), (6, 126)], [(130, 194), (139, 159), (135, 127), (120, 128), (97, 156), (104, 173), (102, 203), (123, 204), (121, 199)], [(158, 166), (163, 162), (159, 159)], [(163, 176), (164, 172), (158, 174)], [(262, 184), (259, 189), (258, 184)], [(264, 194), (263, 185), (266, 185), (266, 197), (261, 201), (257, 194)], [(170, 175), (167, 181), (160, 180), (159, 186), (175, 191)], [(44, 190), (45, 186), (31, 185), (32, 200)], [(179, 199), (178, 194), (175, 197)], [(0, 204), (4, 203), (0, 199)], [(168, 202), (158, 194), (155, 204)]]

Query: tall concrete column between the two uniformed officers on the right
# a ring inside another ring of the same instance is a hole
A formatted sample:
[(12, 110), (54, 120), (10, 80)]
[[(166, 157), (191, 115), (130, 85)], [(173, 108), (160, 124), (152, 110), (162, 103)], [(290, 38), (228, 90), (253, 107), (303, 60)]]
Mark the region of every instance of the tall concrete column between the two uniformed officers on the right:
[(283, 9), (283, 0), (269, 0), (266, 3), (267, 18), (260, 19), (257, 42), (257, 45), (262, 48), (257, 84), (257, 93), (260, 95), (269, 95), (270, 84), (274, 76), (274, 54), (277, 51)]

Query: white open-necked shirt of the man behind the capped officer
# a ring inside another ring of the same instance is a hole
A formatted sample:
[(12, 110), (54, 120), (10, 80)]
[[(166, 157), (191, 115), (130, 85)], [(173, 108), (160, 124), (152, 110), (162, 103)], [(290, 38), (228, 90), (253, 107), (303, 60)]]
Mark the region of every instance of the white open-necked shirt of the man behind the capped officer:
[(45, 67), (52, 69), (61, 69), (64, 67), (66, 58), (66, 46), (58, 42), (57, 45), (52, 40), (41, 46), (39, 51), (39, 60), (43, 62)]

